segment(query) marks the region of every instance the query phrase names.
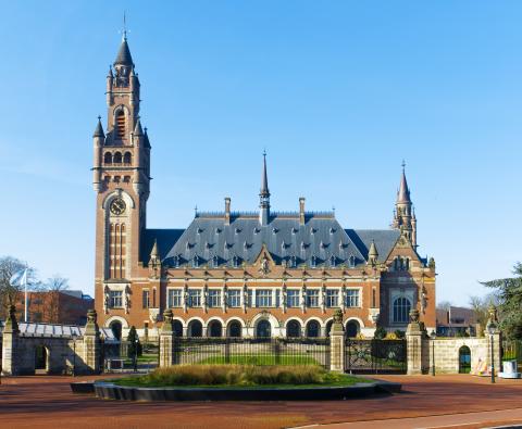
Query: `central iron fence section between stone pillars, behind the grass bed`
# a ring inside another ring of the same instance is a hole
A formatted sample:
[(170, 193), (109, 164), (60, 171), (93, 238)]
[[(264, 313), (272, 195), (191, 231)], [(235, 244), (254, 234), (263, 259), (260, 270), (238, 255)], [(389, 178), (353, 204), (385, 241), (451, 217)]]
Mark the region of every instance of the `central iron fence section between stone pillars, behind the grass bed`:
[(174, 338), (174, 364), (321, 365), (328, 338)]

